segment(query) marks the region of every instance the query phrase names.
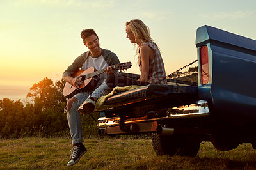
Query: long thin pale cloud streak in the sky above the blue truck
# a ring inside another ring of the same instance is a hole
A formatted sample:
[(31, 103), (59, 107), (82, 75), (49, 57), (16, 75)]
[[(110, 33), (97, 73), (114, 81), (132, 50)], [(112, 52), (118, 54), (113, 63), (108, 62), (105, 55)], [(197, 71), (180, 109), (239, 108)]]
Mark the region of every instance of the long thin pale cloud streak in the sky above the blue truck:
[(250, 17), (253, 15), (252, 11), (237, 11), (232, 13), (220, 12), (220, 13), (212, 13), (212, 14), (200, 14), (201, 17), (205, 19), (242, 19), (245, 17)]

